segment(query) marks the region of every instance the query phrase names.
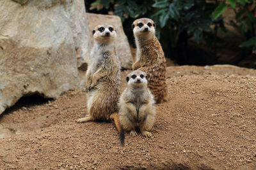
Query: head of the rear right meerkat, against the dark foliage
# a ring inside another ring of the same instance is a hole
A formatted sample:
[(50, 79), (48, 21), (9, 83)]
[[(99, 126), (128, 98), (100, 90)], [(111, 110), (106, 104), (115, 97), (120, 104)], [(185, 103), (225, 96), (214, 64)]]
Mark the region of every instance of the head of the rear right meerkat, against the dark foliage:
[(156, 32), (156, 24), (150, 18), (140, 18), (132, 23), (134, 36), (152, 36)]

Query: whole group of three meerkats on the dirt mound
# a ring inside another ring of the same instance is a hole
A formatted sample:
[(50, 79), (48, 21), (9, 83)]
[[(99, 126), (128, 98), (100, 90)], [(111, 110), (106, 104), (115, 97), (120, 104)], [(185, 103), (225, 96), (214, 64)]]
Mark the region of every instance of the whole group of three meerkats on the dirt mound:
[(155, 103), (167, 100), (164, 53), (155, 36), (153, 20), (141, 18), (132, 23), (137, 46), (136, 62), (127, 75), (127, 87), (120, 96), (120, 65), (115, 53), (116, 31), (112, 25), (93, 29), (94, 45), (86, 71), (88, 115), (77, 122), (113, 119), (121, 144), (124, 131), (151, 137), (155, 121)]

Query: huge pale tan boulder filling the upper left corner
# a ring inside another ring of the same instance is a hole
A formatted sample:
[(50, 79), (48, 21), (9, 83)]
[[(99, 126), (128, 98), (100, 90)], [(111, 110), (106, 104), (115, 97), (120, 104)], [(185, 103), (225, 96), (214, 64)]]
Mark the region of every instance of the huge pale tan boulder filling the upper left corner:
[(83, 0), (0, 0), (0, 114), (20, 97), (84, 87)]

